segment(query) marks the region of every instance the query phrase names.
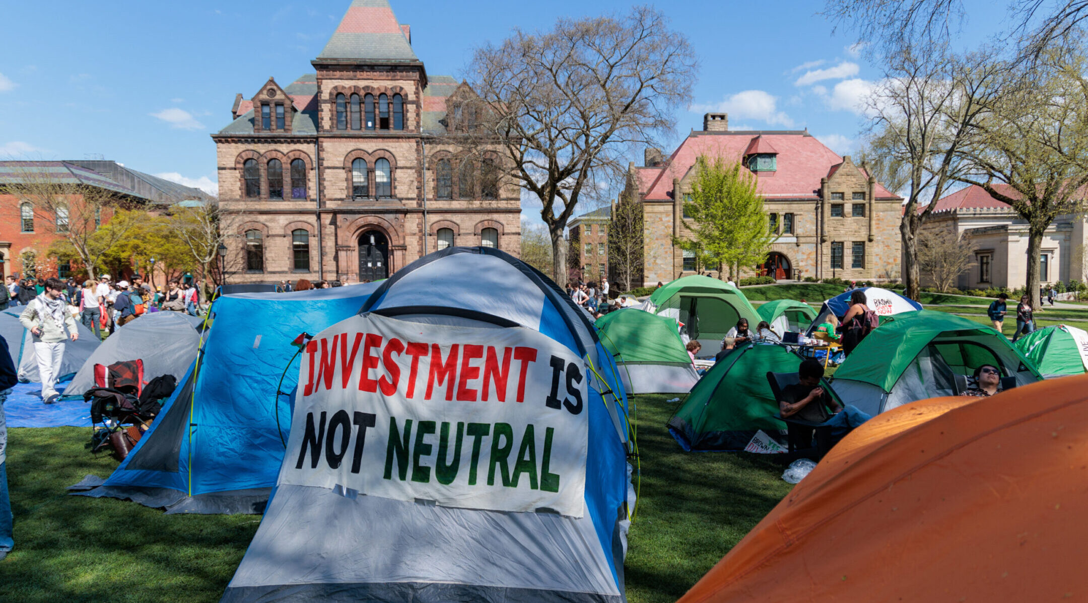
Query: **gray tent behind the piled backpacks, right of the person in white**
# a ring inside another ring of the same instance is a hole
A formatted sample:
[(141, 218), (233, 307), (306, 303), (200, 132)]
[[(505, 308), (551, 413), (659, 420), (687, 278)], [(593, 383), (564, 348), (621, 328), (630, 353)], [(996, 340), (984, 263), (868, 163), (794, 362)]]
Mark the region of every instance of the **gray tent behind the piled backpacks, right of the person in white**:
[(200, 334), (195, 316), (180, 312), (152, 312), (119, 328), (95, 350), (95, 353), (75, 374), (65, 397), (82, 397), (95, 387), (95, 365), (109, 366), (115, 362), (144, 361), (144, 380), (160, 375), (173, 375), (177, 382), (197, 357)]

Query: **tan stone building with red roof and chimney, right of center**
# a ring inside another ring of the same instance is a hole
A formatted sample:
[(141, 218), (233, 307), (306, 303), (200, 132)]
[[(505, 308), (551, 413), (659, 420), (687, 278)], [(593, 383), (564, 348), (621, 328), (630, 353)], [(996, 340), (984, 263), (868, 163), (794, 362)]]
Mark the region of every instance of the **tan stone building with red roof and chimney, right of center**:
[(807, 130), (730, 130), (725, 113), (707, 113), (703, 129), (665, 156), (646, 149), (630, 168), (626, 191), (643, 204), (644, 278), (650, 286), (694, 273), (694, 257), (672, 243), (688, 238), (681, 221), (700, 155), (743, 162), (757, 177), (764, 208), (779, 234), (767, 261), (745, 274), (779, 279), (899, 277), (902, 198), (850, 156), (839, 156)]

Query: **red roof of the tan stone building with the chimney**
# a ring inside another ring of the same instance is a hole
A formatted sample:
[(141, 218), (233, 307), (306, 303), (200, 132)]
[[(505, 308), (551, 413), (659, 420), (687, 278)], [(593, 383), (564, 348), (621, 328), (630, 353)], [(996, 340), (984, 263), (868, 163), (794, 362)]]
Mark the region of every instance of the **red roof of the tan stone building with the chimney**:
[[(758, 191), (771, 198), (817, 197), (820, 178), (828, 176), (842, 158), (815, 137), (804, 133), (767, 133), (762, 135), (735, 131), (729, 134), (693, 134), (673, 151), (669, 162), (660, 169), (639, 169), (641, 190), (647, 200), (671, 199), (672, 179), (683, 178), (695, 164), (698, 155), (721, 156), (726, 161), (741, 161), (754, 139), (777, 149), (777, 171), (767, 175), (756, 174)], [(762, 152), (762, 151), (761, 151)], [(652, 177), (650, 175), (653, 175)], [(650, 181), (647, 183), (647, 179)], [(878, 199), (898, 197), (879, 183), (874, 188)]]

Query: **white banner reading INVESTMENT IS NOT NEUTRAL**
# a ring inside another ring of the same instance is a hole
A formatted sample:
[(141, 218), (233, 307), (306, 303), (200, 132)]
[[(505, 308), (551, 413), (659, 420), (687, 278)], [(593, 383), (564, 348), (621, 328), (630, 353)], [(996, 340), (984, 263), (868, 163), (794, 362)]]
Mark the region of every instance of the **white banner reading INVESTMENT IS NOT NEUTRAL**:
[(581, 517), (588, 381), (532, 329), (354, 316), (307, 344), (280, 481)]

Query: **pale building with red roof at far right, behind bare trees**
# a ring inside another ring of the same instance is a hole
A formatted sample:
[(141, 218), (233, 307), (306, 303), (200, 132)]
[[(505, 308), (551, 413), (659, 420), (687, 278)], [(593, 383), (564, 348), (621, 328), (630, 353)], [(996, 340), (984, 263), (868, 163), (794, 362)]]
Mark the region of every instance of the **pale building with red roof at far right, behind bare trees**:
[[(1002, 194), (1018, 198), (1009, 185), (996, 184)], [(922, 209), (919, 208), (919, 211)], [(1039, 281), (1088, 278), (1085, 243), (1088, 228), (1083, 215), (1059, 215), (1042, 236), (1039, 253)], [(1016, 289), (1027, 282), (1028, 224), (1003, 201), (990, 197), (980, 186), (968, 186), (937, 200), (937, 205), (923, 223), (928, 230), (947, 230), (966, 235), (972, 248), (973, 264), (960, 275), (960, 289)], [(925, 275), (923, 275), (925, 285)]]

